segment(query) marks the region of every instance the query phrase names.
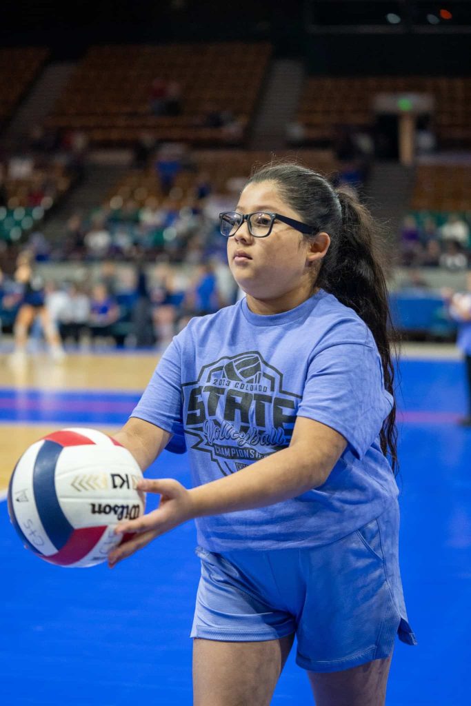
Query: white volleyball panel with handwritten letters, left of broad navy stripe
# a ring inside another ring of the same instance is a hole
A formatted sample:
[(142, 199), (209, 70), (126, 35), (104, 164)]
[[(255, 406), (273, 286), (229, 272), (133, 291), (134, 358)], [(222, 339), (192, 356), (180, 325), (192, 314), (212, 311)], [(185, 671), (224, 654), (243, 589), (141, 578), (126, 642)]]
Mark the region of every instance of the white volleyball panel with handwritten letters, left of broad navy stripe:
[(28, 542), (41, 554), (49, 556), (56, 554), (57, 549), (44, 532), (37, 513), (32, 484), (35, 460), (43, 443), (41, 440), (30, 445), (18, 461), (11, 481), (11, 504), (20, 530)]

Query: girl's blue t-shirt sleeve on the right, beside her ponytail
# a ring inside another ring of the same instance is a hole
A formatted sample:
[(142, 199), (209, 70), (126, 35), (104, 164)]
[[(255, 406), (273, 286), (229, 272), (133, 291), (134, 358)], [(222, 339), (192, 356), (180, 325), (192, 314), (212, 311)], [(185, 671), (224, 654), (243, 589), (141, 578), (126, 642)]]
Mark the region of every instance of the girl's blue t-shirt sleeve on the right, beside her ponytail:
[(378, 351), (361, 343), (339, 343), (314, 355), (297, 416), (338, 431), (361, 459), (392, 406)]

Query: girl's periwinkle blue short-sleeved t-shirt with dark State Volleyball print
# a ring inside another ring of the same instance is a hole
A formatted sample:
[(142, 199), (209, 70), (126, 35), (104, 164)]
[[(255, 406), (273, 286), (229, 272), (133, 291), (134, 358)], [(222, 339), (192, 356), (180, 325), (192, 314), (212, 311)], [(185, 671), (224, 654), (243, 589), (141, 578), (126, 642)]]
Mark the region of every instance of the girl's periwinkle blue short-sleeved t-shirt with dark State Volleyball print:
[(255, 510), (198, 517), (209, 551), (319, 546), (381, 514), (398, 495), (378, 434), (392, 406), (369, 328), (322, 289), (269, 316), (246, 299), (193, 318), (162, 356), (132, 417), (174, 433), (193, 485), (237, 473), (290, 444), (297, 416), (347, 448), (326, 483)]

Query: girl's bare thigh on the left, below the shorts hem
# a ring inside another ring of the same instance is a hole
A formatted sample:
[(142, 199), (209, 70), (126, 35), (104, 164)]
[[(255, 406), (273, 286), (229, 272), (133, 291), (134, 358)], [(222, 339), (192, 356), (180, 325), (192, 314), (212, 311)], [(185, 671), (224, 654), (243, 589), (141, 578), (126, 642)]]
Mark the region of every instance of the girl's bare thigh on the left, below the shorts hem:
[(193, 706), (268, 706), (294, 634), (264, 642), (193, 640)]

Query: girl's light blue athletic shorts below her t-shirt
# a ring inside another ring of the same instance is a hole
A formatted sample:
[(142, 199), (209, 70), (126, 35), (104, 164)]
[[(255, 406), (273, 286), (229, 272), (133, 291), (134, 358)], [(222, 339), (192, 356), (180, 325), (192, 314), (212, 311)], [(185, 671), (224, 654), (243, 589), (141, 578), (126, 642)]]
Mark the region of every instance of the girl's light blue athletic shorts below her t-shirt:
[(398, 563), (399, 508), (333, 544), (228, 551), (202, 547), (192, 638), (251, 642), (296, 633), (297, 664), (339, 671), (389, 657), (407, 622)]

